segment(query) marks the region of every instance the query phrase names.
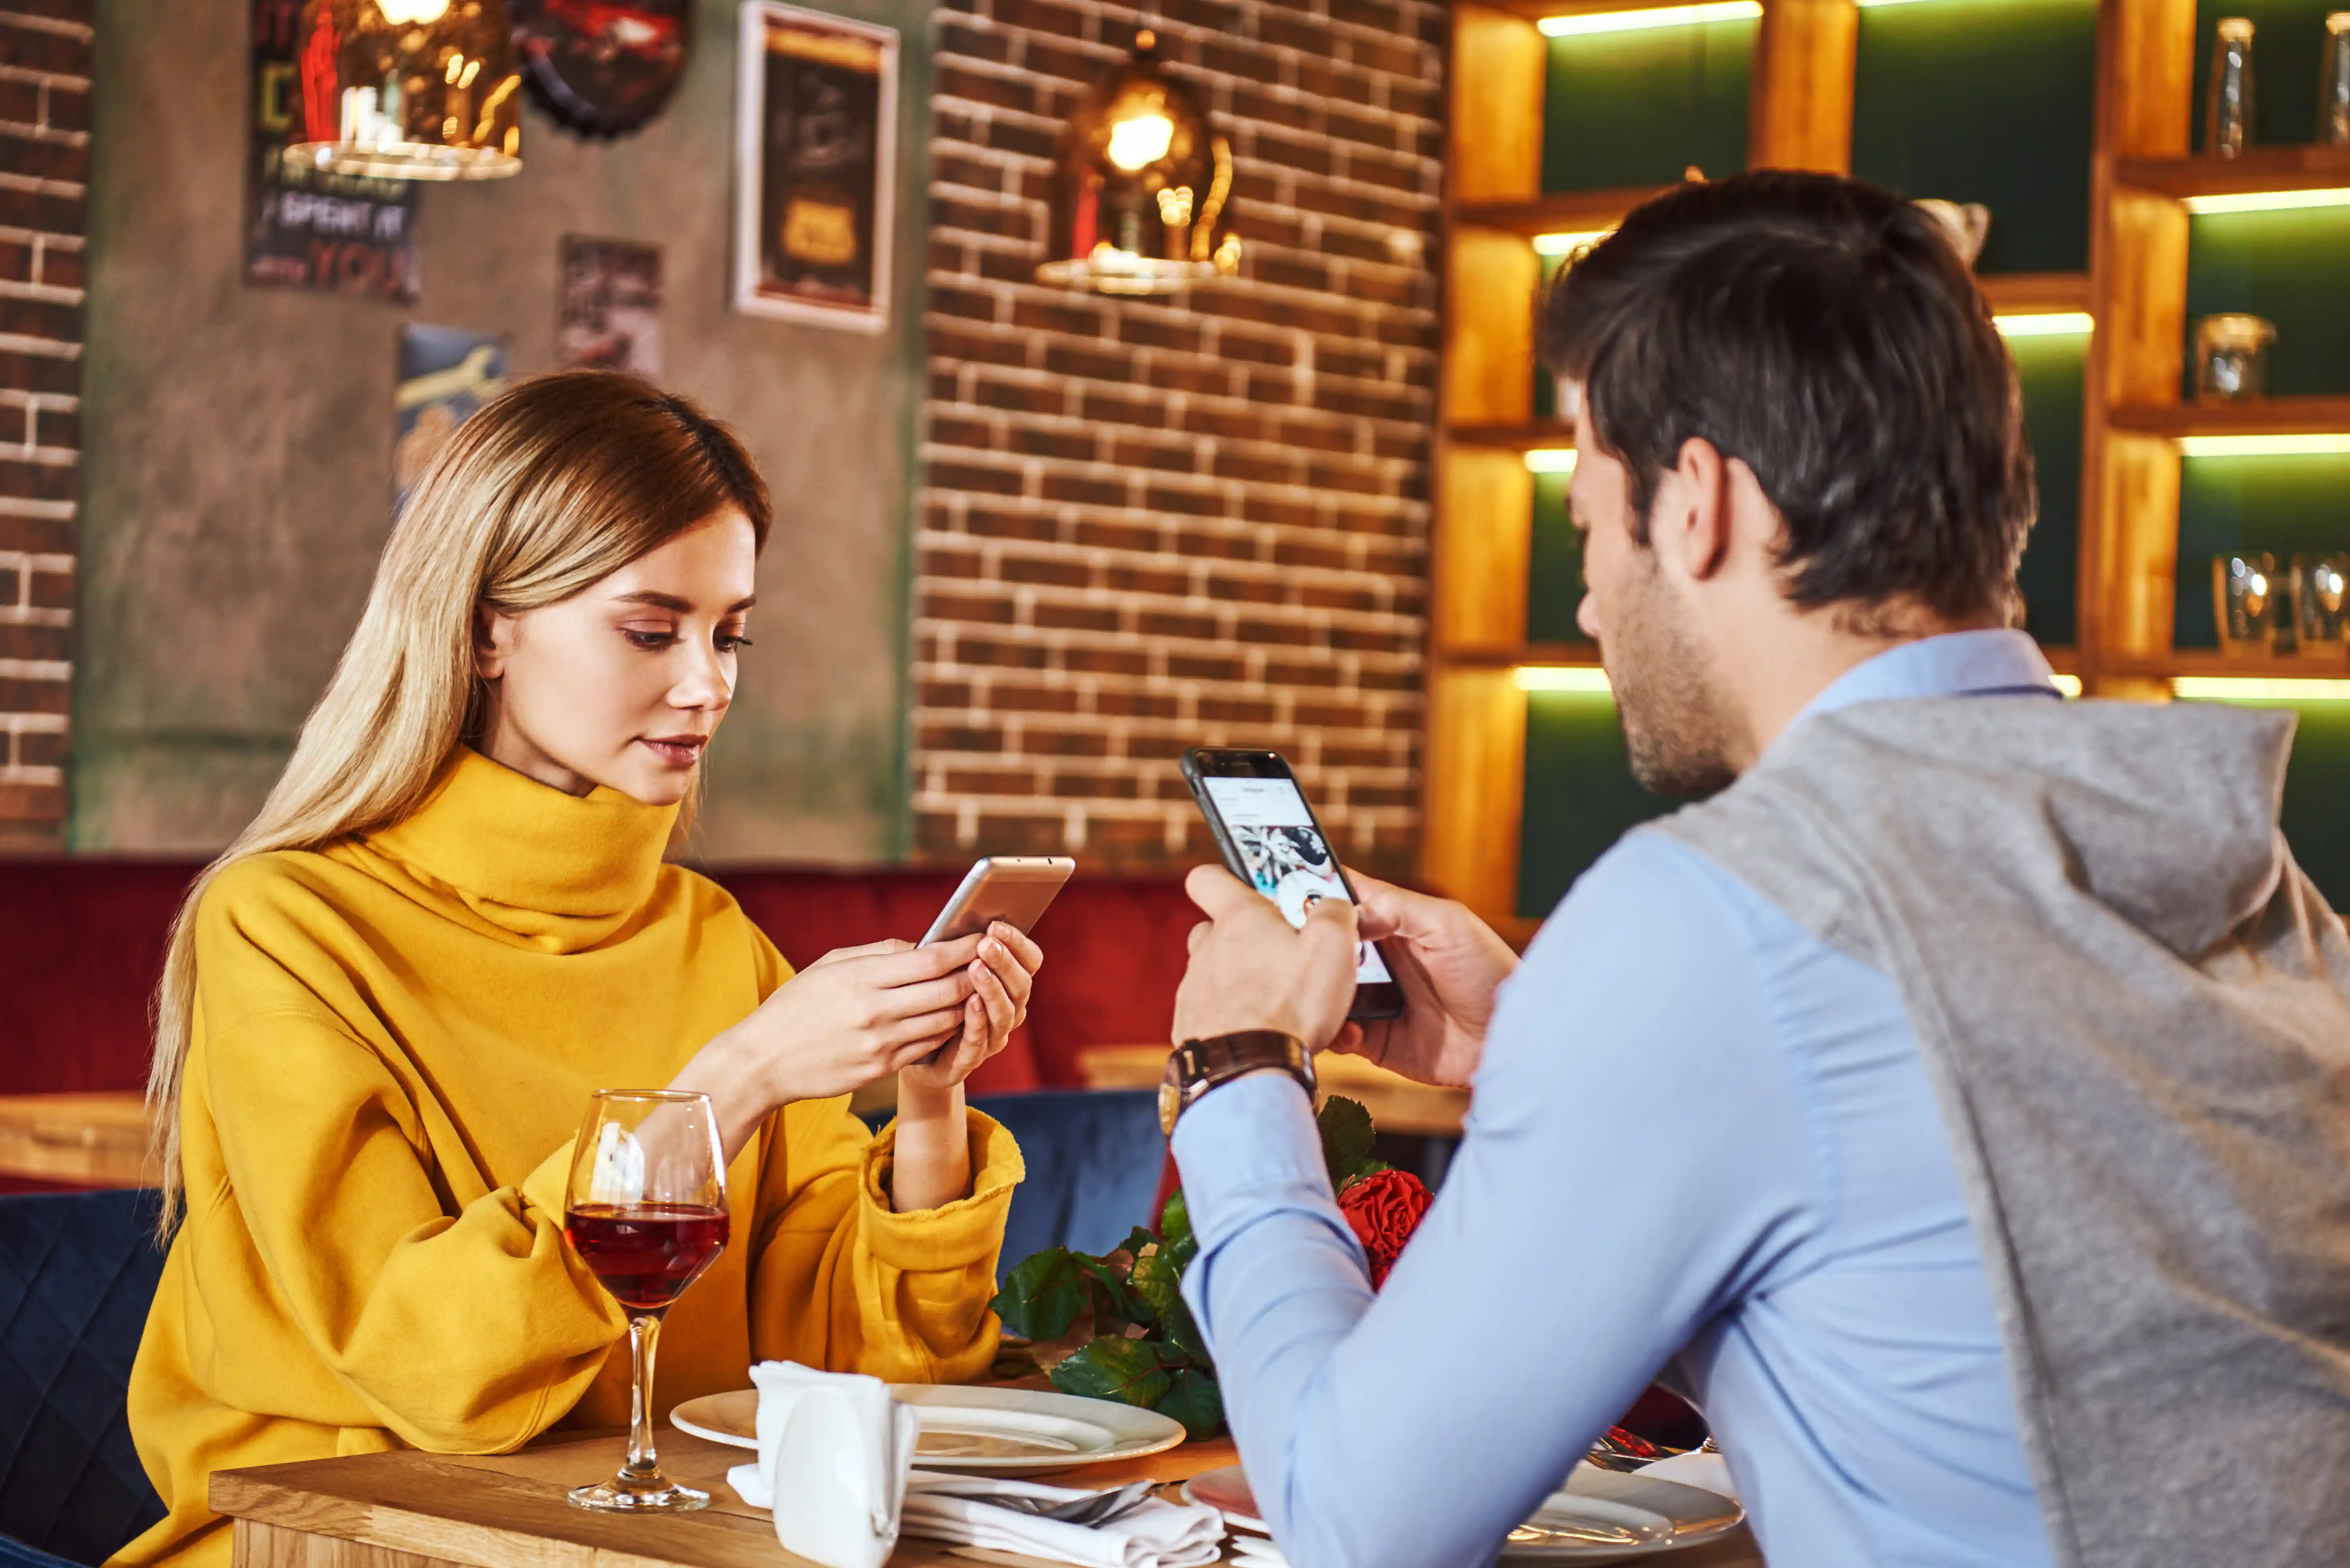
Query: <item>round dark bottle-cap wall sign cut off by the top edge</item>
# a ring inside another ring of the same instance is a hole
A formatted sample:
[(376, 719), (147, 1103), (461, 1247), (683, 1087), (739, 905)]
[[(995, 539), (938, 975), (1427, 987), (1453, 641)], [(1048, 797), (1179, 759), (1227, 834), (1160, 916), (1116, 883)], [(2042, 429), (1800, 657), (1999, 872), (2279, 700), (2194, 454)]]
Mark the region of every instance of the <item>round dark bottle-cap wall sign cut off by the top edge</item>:
[(595, 136), (658, 115), (693, 49), (691, 0), (508, 0), (508, 14), (531, 96)]

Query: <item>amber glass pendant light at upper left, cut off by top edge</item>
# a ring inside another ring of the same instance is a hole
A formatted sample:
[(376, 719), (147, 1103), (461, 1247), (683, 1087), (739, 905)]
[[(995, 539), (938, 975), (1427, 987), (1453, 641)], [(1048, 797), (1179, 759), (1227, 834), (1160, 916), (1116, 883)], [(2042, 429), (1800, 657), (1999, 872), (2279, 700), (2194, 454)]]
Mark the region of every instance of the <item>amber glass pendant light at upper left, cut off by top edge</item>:
[(289, 167), (374, 179), (522, 172), (505, 0), (308, 0)]

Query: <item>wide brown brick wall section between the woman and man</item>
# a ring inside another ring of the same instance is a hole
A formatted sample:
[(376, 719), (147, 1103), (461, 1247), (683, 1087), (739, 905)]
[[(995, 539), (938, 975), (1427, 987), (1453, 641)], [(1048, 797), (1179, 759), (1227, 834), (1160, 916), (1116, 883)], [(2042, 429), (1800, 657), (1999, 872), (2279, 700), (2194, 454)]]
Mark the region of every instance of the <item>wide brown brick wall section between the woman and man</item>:
[[(1234, 146), (1236, 280), (1032, 282), (1072, 103), (1159, 33)], [(914, 823), (1198, 858), (1184, 745), (1274, 745), (1342, 853), (1417, 830), (1441, 5), (942, 0)]]

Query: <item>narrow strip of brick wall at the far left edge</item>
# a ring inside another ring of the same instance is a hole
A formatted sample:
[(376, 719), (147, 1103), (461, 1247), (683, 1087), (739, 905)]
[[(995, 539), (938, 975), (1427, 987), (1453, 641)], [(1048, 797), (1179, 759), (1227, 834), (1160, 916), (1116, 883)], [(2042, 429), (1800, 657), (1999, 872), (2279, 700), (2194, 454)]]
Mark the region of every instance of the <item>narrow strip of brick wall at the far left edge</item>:
[(0, 0), (0, 849), (66, 818), (94, 0)]

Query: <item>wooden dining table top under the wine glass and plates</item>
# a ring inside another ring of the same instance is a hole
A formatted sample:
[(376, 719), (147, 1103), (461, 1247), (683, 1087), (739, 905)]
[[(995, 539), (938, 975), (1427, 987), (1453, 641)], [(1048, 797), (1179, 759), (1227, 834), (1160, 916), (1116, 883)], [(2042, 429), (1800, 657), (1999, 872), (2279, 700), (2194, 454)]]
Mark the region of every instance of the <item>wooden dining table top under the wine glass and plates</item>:
[[(623, 1441), (597, 1436), (505, 1455), (367, 1453), (212, 1476), (212, 1507), (235, 1519), (235, 1568), (790, 1568), (806, 1559), (726, 1486), (740, 1448), (660, 1432), (660, 1467), (712, 1502), (698, 1514), (625, 1519), (564, 1500), (620, 1465)], [(1231, 1439), (1184, 1443), (1128, 1465), (1055, 1476), (1069, 1486), (1187, 1481), (1236, 1460)], [(898, 1542), (893, 1568), (966, 1568), (973, 1559), (1036, 1559)], [(1762, 1568), (1746, 1530), (1671, 1554), (1668, 1568)]]

